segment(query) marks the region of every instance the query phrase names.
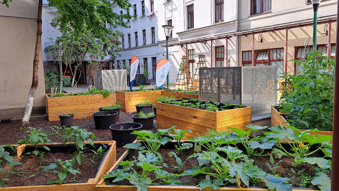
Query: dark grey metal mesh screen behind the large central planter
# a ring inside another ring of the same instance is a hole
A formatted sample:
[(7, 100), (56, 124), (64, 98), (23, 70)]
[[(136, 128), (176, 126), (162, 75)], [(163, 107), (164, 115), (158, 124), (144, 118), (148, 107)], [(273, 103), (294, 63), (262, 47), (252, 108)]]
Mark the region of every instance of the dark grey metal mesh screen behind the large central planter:
[(199, 69), (200, 99), (240, 104), (241, 67)]

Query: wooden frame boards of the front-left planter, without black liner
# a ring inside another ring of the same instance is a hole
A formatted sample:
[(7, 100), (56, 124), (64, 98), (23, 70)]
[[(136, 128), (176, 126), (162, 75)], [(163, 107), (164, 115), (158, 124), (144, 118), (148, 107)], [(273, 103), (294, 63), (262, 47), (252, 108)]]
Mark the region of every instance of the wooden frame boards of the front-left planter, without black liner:
[[(1, 191), (18, 191), (18, 190), (26, 190), (26, 191), (95, 191), (95, 186), (102, 179), (103, 174), (106, 174), (109, 169), (116, 163), (116, 143), (115, 141), (94, 141), (94, 143), (104, 143), (111, 146), (107, 151), (106, 157), (102, 161), (100, 169), (95, 176), (95, 178), (88, 179), (87, 183), (71, 183), (71, 184), (61, 184), (61, 185), (36, 185), (36, 186), (17, 186), (17, 187), (5, 187), (0, 188)], [(37, 145), (59, 145), (63, 143), (51, 143), (51, 144), (37, 144)], [(66, 143), (72, 144), (72, 143)], [(27, 145), (28, 146), (28, 145)], [(26, 145), (21, 145), (17, 147), (18, 156), (21, 155), (23, 149)]]

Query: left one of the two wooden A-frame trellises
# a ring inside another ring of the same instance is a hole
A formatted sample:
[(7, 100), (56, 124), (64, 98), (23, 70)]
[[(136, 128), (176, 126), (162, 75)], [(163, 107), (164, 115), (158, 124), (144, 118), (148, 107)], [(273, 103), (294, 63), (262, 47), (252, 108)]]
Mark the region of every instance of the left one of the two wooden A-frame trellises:
[(174, 84), (174, 89), (181, 90), (190, 90), (192, 86), (192, 78), (190, 72), (190, 65), (188, 63), (188, 58), (186, 55), (183, 55), (181, 58), (181, 63), (179, 64), (179, 72)]

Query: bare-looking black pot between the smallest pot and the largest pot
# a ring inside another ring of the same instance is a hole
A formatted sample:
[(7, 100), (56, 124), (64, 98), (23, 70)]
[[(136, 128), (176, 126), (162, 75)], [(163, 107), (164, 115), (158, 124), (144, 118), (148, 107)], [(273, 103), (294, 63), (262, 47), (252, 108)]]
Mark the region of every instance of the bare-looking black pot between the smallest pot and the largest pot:
[(118, 112), (100, 111), (93, 113), (95, 129), (109, 129), (109, 126), (117, 123)]

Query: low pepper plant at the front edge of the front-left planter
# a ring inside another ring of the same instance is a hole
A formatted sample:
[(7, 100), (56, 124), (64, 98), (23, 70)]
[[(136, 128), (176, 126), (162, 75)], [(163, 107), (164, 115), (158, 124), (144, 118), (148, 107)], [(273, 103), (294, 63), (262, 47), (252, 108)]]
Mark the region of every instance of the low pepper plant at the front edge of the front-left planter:
[[(45, 167), (43, 171), (58, 173), (58, 179), (51, 180), (47, 182), (46, 184), (55, 184), (55, 183), (62, 184), (64, 183), (64, 179), (68, 176), (69, 173), (72, 173), (74, 175), (77, 175), (77, 173), (80, 173), (78, 170), (75, 170), (72, 168), (76, 163), (76, 160), (74, 158), (71, 160), (65, 160), (65, 161), (62, 161), (61, 159), (55, 159), (55, 161), (58, 164), (52, 163), (48, 165), (47, 167)], [(55, 170), (58, 167), (62, 169), (60, 172)]]

